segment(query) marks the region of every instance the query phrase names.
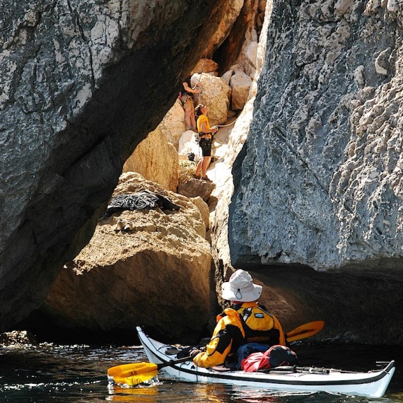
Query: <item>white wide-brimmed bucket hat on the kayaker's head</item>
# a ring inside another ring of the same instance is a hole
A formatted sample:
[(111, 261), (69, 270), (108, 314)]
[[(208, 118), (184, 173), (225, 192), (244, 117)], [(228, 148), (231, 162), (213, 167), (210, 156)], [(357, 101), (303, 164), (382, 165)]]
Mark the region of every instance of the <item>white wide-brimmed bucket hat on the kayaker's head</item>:
[(237, 270), (230, 281), (221, 286), (221, 296), (225, 300), (250, 302), (259, 298), (262, 286), (253, 284), (252, 276), (245, 270)]

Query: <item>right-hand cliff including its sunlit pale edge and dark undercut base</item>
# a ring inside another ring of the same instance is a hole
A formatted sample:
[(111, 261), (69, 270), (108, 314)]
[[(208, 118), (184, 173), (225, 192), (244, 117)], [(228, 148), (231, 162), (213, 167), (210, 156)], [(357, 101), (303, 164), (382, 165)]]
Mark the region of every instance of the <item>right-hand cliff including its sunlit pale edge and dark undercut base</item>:
[(286, 331), (323, 319), (322, 340), (403, 342), (401, 26), (385, 7), (267, 3), (211, 215), (217, 291), (244, 267)]

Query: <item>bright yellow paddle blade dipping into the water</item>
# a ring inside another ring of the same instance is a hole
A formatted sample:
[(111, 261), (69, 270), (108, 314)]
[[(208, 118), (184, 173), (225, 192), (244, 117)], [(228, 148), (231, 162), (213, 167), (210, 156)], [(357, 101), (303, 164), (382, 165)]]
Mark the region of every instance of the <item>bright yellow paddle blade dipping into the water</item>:
[(158, 366), (153, 363), (131, 363), (115, 366), (107, 370), (108, 378), (112, 378), (117, 384), (129, 386), (139, 385), (158, 374)]

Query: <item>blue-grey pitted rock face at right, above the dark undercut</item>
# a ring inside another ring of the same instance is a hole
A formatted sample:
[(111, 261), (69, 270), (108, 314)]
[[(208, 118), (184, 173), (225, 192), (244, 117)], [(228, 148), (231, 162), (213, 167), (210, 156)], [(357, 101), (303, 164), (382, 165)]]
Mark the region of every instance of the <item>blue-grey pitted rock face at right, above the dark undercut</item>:
[(235, 164), (235, 267), (402, 267), (402, 9), (387, 4), (280, 1), (266, 16), (271, 39)]

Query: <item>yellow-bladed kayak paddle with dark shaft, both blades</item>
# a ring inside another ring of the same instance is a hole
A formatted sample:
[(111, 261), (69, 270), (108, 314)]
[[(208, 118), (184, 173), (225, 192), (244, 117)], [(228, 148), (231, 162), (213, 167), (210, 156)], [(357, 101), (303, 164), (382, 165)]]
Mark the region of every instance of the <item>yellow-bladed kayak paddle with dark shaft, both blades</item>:
[[(287, 341), (296, 341), (311, 337), (322, 330), (325, 322), (317, 320), (315, 322), (305, 323), (291, 330), (286, 334)], [(185, 363), (192, 360), (192, 357), (184, 357), (177, 360), (171, 360), (166, 363), (130, 363), (121, 366), (115, 366), (107, 370), (108, 377), (113, 378), (116, 383), (125, 383), (129, 386), (138, 385), (141, 382), (146, 382), (156, 376), (161, 368), (174, 366), (178, 363)]]

